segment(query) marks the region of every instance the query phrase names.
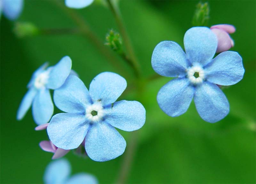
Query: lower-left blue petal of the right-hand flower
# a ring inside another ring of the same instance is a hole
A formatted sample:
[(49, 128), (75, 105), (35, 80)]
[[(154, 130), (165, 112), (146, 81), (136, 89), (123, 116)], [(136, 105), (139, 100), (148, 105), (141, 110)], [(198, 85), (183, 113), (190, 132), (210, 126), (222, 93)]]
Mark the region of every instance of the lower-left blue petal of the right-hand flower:
[(194, 87), (187, 78), (177, 78), (165, 84), (157, 94), (159, 107), (169, 116), (185, 113), (192, 101)]

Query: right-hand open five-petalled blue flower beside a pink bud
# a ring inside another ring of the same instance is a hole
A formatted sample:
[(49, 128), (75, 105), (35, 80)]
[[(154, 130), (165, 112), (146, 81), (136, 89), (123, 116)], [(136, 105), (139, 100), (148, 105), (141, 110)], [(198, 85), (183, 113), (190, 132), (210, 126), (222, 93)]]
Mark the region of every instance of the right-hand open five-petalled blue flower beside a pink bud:
[(207, 27), (192, 27), (185, 33), (186, 53), (176, 42), (156, 45), (153, 69), (162, 76), (177, 77), (157, 94), (157, 102), (167, 115), (185, 113), (194, 97), (196, 110), (205, 121), (214, 123), (227, 116), (228, 100), (217, 85), (236, 84), (244, 76), (244, 67), (237, 52), (222, 52), (212, 59), (217, 45), (217, 37)]

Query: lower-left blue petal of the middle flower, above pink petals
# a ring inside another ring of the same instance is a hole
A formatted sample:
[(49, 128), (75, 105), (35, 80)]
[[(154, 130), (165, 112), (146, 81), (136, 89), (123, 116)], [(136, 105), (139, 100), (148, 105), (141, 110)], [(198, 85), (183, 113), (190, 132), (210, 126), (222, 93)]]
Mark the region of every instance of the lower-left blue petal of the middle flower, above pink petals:
[(59, 113), (52, 117), (47, 133), (55, 146), (72, 150), (83, 142), (88, 127), (84, 114)]

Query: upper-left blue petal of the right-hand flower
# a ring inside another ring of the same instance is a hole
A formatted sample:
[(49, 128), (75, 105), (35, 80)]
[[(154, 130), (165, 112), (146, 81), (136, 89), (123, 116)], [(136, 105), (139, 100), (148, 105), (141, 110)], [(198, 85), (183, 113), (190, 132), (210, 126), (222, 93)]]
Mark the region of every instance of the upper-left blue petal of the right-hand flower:
[(184, 51), (176, 42), (164, 41), (156, 45), (151, 64), (156, 73), (166, 77), (184, 76), (188, 62)]

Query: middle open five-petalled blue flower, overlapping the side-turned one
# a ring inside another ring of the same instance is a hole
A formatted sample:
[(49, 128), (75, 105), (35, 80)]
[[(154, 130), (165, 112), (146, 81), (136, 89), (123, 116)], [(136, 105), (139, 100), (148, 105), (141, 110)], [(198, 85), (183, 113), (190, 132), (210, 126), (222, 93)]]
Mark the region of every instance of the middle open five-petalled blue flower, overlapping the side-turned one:
[(146, 119), (139, 102), (115, 102), (125, 88), (125, 79), (116, 73), (100, 73), (92, 80), (89, 91), (78, 77), (70, 75), (53, 94), (55, 105), (67, 113), (52, 117), (47, 127), (52, 143), (72, 150), (85, 138), (85, 151), (92, 160), (102, 162), (122, 155), (126, 142), (114, 127), (134, 131)]

